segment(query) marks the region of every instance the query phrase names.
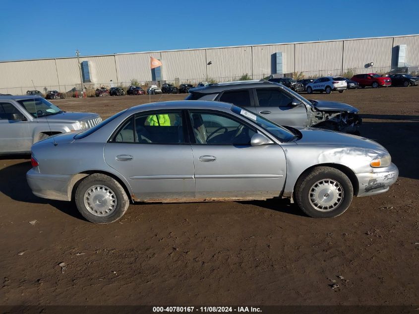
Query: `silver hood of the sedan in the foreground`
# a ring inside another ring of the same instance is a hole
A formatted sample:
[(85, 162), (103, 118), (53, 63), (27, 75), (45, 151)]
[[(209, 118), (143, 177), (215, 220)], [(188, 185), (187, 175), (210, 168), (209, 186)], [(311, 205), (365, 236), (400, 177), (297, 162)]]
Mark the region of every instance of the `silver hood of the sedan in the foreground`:
[(301, 138), (296, 141), (298, 145), (358, 147), (377, 152), (387, 152), (387, 150), (377, 142), (357, 135), (314, 127), (298, 128), (298, 130), (302, 135)]

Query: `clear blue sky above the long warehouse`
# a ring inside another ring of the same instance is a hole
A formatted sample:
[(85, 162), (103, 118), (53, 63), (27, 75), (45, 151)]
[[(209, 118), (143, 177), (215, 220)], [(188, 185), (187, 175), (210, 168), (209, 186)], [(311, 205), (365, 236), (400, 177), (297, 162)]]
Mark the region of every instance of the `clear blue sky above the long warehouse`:
[(418, 34), (419, 1), (398, 3), (5, 0), (0, 60)]

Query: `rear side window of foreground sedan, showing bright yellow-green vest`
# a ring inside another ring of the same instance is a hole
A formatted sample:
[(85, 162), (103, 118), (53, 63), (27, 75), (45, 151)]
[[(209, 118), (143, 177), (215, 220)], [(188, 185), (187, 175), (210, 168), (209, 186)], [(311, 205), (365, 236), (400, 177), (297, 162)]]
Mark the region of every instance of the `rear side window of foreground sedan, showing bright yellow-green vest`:
[(137, 114), (127, 120), (114, 136), (114, 142), (124, 143), (184, 143), (181, 112)]

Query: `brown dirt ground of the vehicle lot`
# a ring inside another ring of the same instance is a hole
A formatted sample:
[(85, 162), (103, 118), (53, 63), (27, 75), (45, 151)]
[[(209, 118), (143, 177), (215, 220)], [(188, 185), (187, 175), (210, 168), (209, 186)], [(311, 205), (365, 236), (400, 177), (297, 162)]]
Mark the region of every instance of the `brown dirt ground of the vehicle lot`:
[[(307, 96), (359, 108), (362, 135), (400, 170), (387, 193), (354, 198), (334, 219), (270, 200), (135, 204), (119, 222), (95, 225), (72, 203), (31, 193), (27, 156), (1, 157), (1, 304), (418, 305), (419, 87)], [(54, 101), (102, 117), (146, 102)]]

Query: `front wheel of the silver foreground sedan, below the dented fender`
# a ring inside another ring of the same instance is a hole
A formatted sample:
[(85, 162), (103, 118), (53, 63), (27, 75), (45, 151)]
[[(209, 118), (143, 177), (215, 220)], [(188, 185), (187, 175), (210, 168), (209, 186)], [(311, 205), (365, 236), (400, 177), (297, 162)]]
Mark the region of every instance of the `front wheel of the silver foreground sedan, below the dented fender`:
[[(295, 188), (296, 203), (313, 218), (332, 218), (343, 214), (351, 205), (353, 196), (354, 188), (349, 178), (331, 167), (316, 167), (303, 173)], [(324, 197), (326, 202), (323, 203)]]

